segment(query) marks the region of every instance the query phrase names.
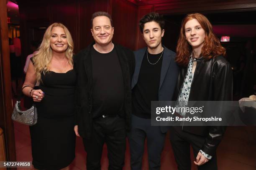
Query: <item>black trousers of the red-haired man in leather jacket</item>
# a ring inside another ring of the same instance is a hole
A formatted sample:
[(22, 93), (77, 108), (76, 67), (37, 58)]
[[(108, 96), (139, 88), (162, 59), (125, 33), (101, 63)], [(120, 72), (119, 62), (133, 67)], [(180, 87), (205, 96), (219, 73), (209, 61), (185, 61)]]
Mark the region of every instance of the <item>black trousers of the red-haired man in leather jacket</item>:
[[(178, 170), (191, 170), (190, 145), (196, 158), (199, 150), (202, 149), (205, 137), (184, 132), (182, 126), (176, 126), (170, 129), (170, 141)], [(198, 170), (217, 170), (216, 154), (207, 163), (197, 168)]]

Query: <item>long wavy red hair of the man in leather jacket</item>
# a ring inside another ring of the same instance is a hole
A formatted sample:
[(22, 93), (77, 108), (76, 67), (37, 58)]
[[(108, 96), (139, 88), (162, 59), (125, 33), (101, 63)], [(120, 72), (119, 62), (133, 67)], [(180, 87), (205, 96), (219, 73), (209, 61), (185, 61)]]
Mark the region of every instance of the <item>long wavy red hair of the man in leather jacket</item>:
[(196, 19), (205, 30), (205, 41), (201, 50), (201, 55), (205, 58), (205, 60), (210, 60), (211, 58), (217, 57), (218, 55), (225, 55), (226, 50), (221, 46), (220, 40), (214, 35), (210, 21), (200, 13), (194, 13), (188, 14), (182, 20), (182, 27), (180, 29), (179, 40), (176, 48), (176, 62), (181, 66), (188, 65), (192, 47), (186, 40), (185, 24), (187, 21), (192, 19)]

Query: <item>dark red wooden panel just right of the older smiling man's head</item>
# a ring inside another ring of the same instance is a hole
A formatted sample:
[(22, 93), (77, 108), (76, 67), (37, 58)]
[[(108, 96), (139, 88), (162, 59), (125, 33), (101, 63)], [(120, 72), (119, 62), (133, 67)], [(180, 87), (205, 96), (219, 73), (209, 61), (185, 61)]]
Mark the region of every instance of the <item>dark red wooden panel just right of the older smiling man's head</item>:
[(137, 11), (138, 7), (127, 0), (113, 0), (113, 40), (132, 50), (136, 49)]

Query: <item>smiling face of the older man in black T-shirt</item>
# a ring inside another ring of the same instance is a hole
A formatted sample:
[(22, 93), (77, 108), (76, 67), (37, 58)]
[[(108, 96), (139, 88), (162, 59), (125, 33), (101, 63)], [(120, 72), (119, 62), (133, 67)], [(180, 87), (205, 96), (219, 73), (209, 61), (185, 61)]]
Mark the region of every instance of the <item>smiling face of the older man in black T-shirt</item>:
[(105, 46), (112, 43), (114, 28), (108, 17), (95, 17), (92, 21), (91, 32), (96, 44)]

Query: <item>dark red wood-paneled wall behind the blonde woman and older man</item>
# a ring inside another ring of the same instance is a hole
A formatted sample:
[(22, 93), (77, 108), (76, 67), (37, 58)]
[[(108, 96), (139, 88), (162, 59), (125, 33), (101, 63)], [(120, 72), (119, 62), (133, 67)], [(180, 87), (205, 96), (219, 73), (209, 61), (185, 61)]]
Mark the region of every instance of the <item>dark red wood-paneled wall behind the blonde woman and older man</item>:
[(69, 29), (74, 40), (75, 53), (87, 47), (93, 40), (90, 20), (92, 13), (96, 11), (112, 14), (115, 42), (132, 50), (136, 49), (138, 6), (127, 0), (20, 0), (18, 5), (24, 60), (31, 52), (30, 41), (35, 39), (32, 36), (33, 29), (48, 27), (54, 22), (63, 23)]

